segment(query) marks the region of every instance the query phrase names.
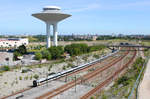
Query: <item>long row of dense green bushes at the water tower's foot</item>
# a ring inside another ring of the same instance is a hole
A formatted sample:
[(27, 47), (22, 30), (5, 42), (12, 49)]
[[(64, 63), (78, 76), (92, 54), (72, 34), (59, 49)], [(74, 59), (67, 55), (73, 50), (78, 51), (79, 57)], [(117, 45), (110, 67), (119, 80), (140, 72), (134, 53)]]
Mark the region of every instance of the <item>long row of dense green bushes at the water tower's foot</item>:
[(63, 46), (52, 46), (46, 50), (43, 50), (41, 52), (35, 53), (35, 59), (41, 60), (41, 59), (47, 59), (47, 60), (55, 60), (60, 59), (64, 52), (67, 52), (70, 54), (70, 56), (77, 56), (93, 51), (98, 51), (105, 48), (103, 45), (94, 45), (94, 46), (88, 46), (87, 44), (81, 43), (81, 44), (71, 44)]

